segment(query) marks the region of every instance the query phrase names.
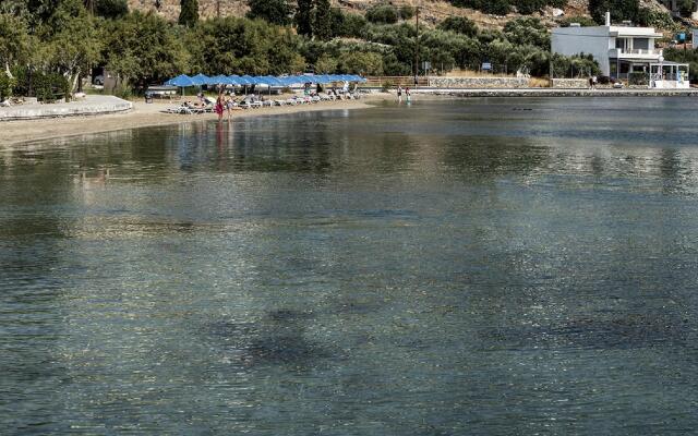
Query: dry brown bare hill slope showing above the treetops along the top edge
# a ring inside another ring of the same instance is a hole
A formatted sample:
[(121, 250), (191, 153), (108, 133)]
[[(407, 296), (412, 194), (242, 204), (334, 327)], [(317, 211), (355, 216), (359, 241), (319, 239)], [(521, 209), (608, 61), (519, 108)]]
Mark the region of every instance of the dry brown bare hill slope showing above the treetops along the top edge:
[[(180, 10), (180, 0), (160, 0), (159, 13), (166, 16), (168, 20), (177, 20)], [(474, 11), (471, 9), (456, 8), (444, 0), (332, 0), (333, 5), (341, 8), (346, 12), (363, 13), (368, 8), (373, 4), (380, 4), (389, 2), (395, 5), (420, 5), (422, 10), (421, 17), (426, 23), (436, 24), (447, 16), (462, 15), (473, 20), (481, 27), (502, 27), (507, 21), (519, 16), (517, 14), (509, 14), (507, 16), (496, 16)], [(587, 7), (588, 0), (568, 0), (565, 8), (565, 14), (573, 15), (588, 15)], [(640, 0), (643, 7), (649, 7), (655, 10), (667, 12), (661, 4), (660, 0)], [(129, 7), (131, 10), (141, 11), (155, 11), (155, 0), (129, 0)], [(222, 16), (243, 16), (248, 11), (246, 0), (198, 0), (200, 15), (202, 17), (216, 16), (217, 10), (220, 10)], [(543, 21), (549, 24), (553, 24), (553, 11), (549, 8), (543, 11), (541, 15)]]

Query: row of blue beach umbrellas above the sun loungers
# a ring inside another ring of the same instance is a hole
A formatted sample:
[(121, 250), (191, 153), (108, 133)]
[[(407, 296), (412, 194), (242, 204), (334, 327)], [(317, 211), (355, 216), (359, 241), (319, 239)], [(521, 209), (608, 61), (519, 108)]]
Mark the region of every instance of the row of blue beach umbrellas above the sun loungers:
[(207, 76), (204, 74), (197, 74), (195, 76), (188, 76), (186, 74), (178, 75), (165, 82), (166, 86), (202, 86), (202, 85), (266, 85), (266, 86), (292, 86), (302, 85), (305, 83), (320, 83), (327, 84), (334, 82), (365, 82), (366, 80), (360, 75), (354, 74), (302, 74), (290, 76), (250, 76), (250, 75), (216, 75)]

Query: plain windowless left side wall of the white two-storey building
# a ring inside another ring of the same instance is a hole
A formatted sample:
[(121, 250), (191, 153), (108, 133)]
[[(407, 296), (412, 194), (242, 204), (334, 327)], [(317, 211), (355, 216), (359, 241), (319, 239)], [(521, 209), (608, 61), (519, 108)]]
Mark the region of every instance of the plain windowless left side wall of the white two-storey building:
[(601, 66), (601, 74), (610, 75), (611, 65), (609, 63), (609, 49), (611, 37), (609, 27), (558, 27), (553, 29), (552, 38), (553, 53), (573, 56), (579, 53), (592, 55), (593, 59)]

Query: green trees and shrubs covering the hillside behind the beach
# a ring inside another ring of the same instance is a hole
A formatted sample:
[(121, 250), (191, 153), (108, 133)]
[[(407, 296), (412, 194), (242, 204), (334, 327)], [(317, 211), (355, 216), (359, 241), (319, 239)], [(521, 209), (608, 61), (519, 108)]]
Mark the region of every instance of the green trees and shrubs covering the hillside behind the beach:
[[(516, 9), (527, 0), (506, 1)], [(577, 0), (553, 1), (574, 8)], [(115, 74), (123, 94), (181, 73), (411, 75), (417, 59), (419, 74), (478, 70), (484, 62), (495, 73), (537, 76), (551, 69), (556, 76), (598, 71), (586, 56), (551, 56), (550, 1), (535, 3), (540, 10), (533, 14), (508, 14), (501, 26), (481, 25), (467, 16), (472, 9), (450, 4), (461, 13), (426, 21), (419, 34), (417, 11), (408, 3), (357, 0), (337, 8), (329, 0), (246, 0), (242, 7), (221, 1), (221, 17), (206, 17), (202, 11), (212, 4), (182, 0), (172, 19), (141, 11), (145, 3), (129, 8), (127, 0), (0, 0), (0, 98), (34, 94), (47, 100), (70, 94), (94, 66)], [(240, 12), (222, 16), (222, 8), (233, 5)], [(160, 0), (160, 11), (167, 7)], [(586, 15), (557, 24), (581, 19), (592, 24), (589, 16), (599, 21), (599, 11), (611, 7), (619, 20), (676, 25), (665, 11), (639, 0), (591, 0), (587, 7)]]

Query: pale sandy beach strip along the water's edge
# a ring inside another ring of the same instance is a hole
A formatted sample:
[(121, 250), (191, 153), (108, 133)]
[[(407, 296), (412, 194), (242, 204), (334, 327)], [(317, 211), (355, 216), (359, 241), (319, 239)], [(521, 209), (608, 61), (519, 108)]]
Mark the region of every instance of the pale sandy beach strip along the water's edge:
[[(378, 94), (366, 96), (361, 100), (324, 101), (314, 105), (236, 110), (232, 117), (265, 117), (321, 110), (364, 109), (370, 107), (370, 101), (375, 101), (383, 98), (386, 97)], [(163, 110), (171, 106), (174, 106), (174, 104), (169, 101), (158, 101), (149, 105), (143, 101), (136, 101), (133, 104), (133, 110), (123, 113), (25, 121), (7, 121), (0, 123), (0, 146), (51, 140), (57, 137), (112, 132), (124, 129), (180, 124), (201, 120), (215, 120), (217, 118), (215, 113), (185, 116), (163, 112)]]

